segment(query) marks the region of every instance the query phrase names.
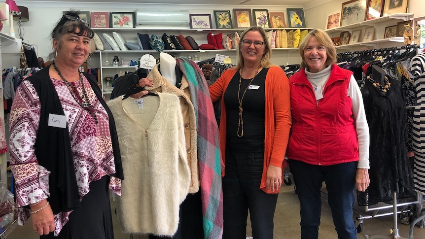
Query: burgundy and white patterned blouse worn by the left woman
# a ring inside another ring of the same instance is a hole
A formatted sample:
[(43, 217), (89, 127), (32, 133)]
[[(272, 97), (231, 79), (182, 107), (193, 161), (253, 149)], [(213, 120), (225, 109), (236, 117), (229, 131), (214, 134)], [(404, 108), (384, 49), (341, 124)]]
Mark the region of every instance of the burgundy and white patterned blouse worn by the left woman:
[[(112, 142), (109, 132), (109, 119), (105, 108), (96, 98), (89, 81), (83, 76), (88, 98), (99, 120), (94, 123), (89, 112), (81, 108), (72, 97), (67, 85), (51, 78), (67, 117), (71, 139), (75, 177), (77, 179), (80, 201), (89, 191), (89, 183), (105, 175), (115, 173)], [(82, 96), (79, 81), (71, 83)], [(18, 224), (23, 225), (30, 216), (25, 205), (35, 204), (50, 196), (49, 173), (38, 165), (35, 156), (35, 139), (40, 120), (40, 102), (34, 86), (23, 81), (16, 90), (10, 113), (10, 165), (16, 180), (16, 205)], [(121, 180), (111, 177), (109, 188), (121, 195)], [(57, 236), (68, 222), (71, 211), (54, 215)]]

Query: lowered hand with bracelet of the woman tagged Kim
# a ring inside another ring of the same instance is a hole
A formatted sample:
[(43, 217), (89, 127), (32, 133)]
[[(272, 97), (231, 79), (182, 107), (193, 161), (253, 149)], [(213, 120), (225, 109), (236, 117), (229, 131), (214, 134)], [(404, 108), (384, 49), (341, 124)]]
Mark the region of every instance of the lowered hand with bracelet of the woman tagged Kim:
[[(42, 206), (46, 205), (47, 200), (44, 199), (36, 205), (31, 205), (31, 211), (36, 211)], [(33, 220), (33, 230), (38, 235), (47, 235), (55, 230), (55, 219), (53, 217), (53, 211), (50, 205), (47, 205), (40, 211), (31, 214)]]

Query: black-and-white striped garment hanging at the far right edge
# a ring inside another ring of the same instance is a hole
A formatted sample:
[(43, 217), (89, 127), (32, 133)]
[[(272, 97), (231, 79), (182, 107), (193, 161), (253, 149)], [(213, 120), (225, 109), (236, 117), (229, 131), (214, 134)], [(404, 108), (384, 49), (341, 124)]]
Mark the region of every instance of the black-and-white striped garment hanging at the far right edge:
[[(413, 114), (413, 150), (415, 190), (425, 195), (425, 53), (412, 58), (411, 73), (415, 79), (417, 101)], [(422, 122), (422, 124), (421, 124)]]

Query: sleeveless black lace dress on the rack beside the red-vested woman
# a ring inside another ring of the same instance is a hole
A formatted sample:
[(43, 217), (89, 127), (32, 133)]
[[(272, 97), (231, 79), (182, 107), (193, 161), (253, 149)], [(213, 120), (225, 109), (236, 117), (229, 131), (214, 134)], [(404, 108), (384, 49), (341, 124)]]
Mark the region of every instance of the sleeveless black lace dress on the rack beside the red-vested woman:
[(406, 149), (406, 105), (400, 82), (390, 79), (388, 92), (365, 80), (361, 89), (370, 131), (370, 185), (357, 192), (358, 205), (374, 205), (414, 196), (413, 172)]

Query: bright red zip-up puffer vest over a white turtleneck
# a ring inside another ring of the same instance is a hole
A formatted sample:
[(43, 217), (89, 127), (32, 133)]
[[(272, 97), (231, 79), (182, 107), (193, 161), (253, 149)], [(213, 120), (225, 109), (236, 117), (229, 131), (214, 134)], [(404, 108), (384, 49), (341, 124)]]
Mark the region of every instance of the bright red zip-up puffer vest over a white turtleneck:
[(353, 73), (337, 65), (316, 103), (304, 68), (289, 78), (292, 128), (286, 156), (312, 165), (358, 161), (352, 100), (347, 95)]

